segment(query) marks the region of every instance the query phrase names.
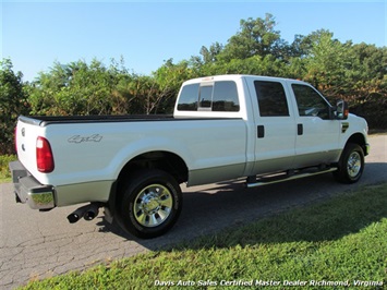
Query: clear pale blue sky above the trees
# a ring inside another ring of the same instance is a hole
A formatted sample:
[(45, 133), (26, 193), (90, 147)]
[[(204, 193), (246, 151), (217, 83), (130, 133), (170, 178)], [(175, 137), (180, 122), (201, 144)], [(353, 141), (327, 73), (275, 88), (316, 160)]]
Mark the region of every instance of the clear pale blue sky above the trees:
[(271, 13), (281, 37), (316, 29), (340, 41), (387, 46), (387, 2), (376, 1), (16, 1), (0, 0), (1, 58), (11, 58), (24, 81), (55, 61), (105, 64), (120, 60), (150, 74), (172, 58), (198, 56), (202, 46), (226, 44), (241, 19)]

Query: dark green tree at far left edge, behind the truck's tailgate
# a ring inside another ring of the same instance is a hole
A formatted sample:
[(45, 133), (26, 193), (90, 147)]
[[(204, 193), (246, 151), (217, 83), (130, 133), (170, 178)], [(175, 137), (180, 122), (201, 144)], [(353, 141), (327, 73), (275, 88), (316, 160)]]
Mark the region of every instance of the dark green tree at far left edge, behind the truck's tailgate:
[(23, 74), (13, 72), (10, 59), (0, 61), (0, 155), (14, 153), (14, 126), (28, 110)]

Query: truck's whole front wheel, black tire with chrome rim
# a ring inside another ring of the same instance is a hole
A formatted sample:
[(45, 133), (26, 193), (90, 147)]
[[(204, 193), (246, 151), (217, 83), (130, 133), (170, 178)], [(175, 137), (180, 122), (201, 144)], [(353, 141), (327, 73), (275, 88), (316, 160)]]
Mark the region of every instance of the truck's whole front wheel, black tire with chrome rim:
[(347, 144), (343, 149), (338, 170), (334, 177), (341, 183), (355, 183), (360, 180), (364, 170), (364, 152), (361, 146), (354, 143)]

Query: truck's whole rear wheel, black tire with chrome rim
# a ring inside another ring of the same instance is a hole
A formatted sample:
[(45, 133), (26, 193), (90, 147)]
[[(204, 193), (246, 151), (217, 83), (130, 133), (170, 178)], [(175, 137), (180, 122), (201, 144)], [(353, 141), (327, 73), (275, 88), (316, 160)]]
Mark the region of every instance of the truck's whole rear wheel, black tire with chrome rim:
[(132, 174), (120, 189), (117, 202), (119, 225), (142, 239), (152, 239), (173, 227), (182, 208), (181, 189), (158, 169)]

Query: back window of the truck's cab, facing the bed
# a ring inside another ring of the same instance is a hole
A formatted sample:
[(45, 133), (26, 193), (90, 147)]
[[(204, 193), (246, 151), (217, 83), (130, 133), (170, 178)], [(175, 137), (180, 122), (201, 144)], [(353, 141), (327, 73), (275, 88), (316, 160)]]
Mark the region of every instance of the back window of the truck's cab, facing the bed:
[(185, 85), (180, 95), (178, 110), (239, 111), (237, 84), (232, 81), (220, 81)]

